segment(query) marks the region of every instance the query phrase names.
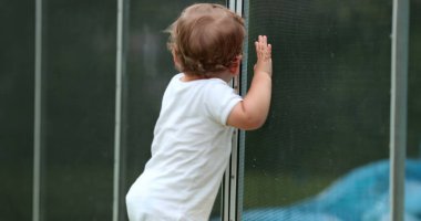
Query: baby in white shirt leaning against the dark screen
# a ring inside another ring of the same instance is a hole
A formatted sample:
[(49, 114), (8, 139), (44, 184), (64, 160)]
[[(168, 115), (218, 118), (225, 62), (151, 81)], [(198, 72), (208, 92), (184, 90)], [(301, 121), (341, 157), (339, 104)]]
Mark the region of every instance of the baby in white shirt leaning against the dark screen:
[(247, 95), (228, 85), (239, 74), (245, 38), (240, 17), (219, 4), (186, 8), (171, 25), (175, 75), (162, 101), (152, 158), (126, 196), (131, 221), (209, 219), (232, 150), (234, 128), (266, 120), (271, 94), (271, 46), (255, 42), (257, 63)]

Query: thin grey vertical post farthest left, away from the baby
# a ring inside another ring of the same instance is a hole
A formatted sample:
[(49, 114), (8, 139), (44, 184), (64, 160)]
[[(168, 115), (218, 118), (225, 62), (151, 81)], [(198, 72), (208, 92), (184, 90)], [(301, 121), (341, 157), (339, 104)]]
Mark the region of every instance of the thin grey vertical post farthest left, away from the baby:
[(35, 64), (33, 123), (32, 220), (40, 220), (41, 204), (41, 83), (42, 83), (42, 0), (35, 0)]

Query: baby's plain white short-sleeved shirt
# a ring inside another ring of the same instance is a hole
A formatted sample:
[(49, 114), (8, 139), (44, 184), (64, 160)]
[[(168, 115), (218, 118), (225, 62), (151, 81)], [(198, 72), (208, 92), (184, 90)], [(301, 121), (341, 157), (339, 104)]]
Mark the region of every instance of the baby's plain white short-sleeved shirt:
[(170, 82), (152, 143), (152, 158), (126, 196), (131, 221), (205, 221), (232, 150), (226, 126), (242, 101), (219, 78)]

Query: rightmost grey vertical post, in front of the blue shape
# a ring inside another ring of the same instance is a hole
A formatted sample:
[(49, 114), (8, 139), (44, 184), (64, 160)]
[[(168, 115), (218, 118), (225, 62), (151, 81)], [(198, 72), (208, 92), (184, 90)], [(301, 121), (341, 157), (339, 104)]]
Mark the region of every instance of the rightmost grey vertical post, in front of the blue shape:
[(393, 0), (390, 106), (391, 220), (403, 221), (409, 0)]

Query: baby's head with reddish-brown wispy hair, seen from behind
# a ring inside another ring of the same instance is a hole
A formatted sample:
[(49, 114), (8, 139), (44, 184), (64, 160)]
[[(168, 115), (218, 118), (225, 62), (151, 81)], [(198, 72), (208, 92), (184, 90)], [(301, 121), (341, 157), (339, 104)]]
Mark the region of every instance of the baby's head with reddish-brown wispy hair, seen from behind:
[(212, 76), (238, 63), (243, 52), (243, 19), (219, 4), (186, 8), (171, 25), (168, 48), (178, 71)]

